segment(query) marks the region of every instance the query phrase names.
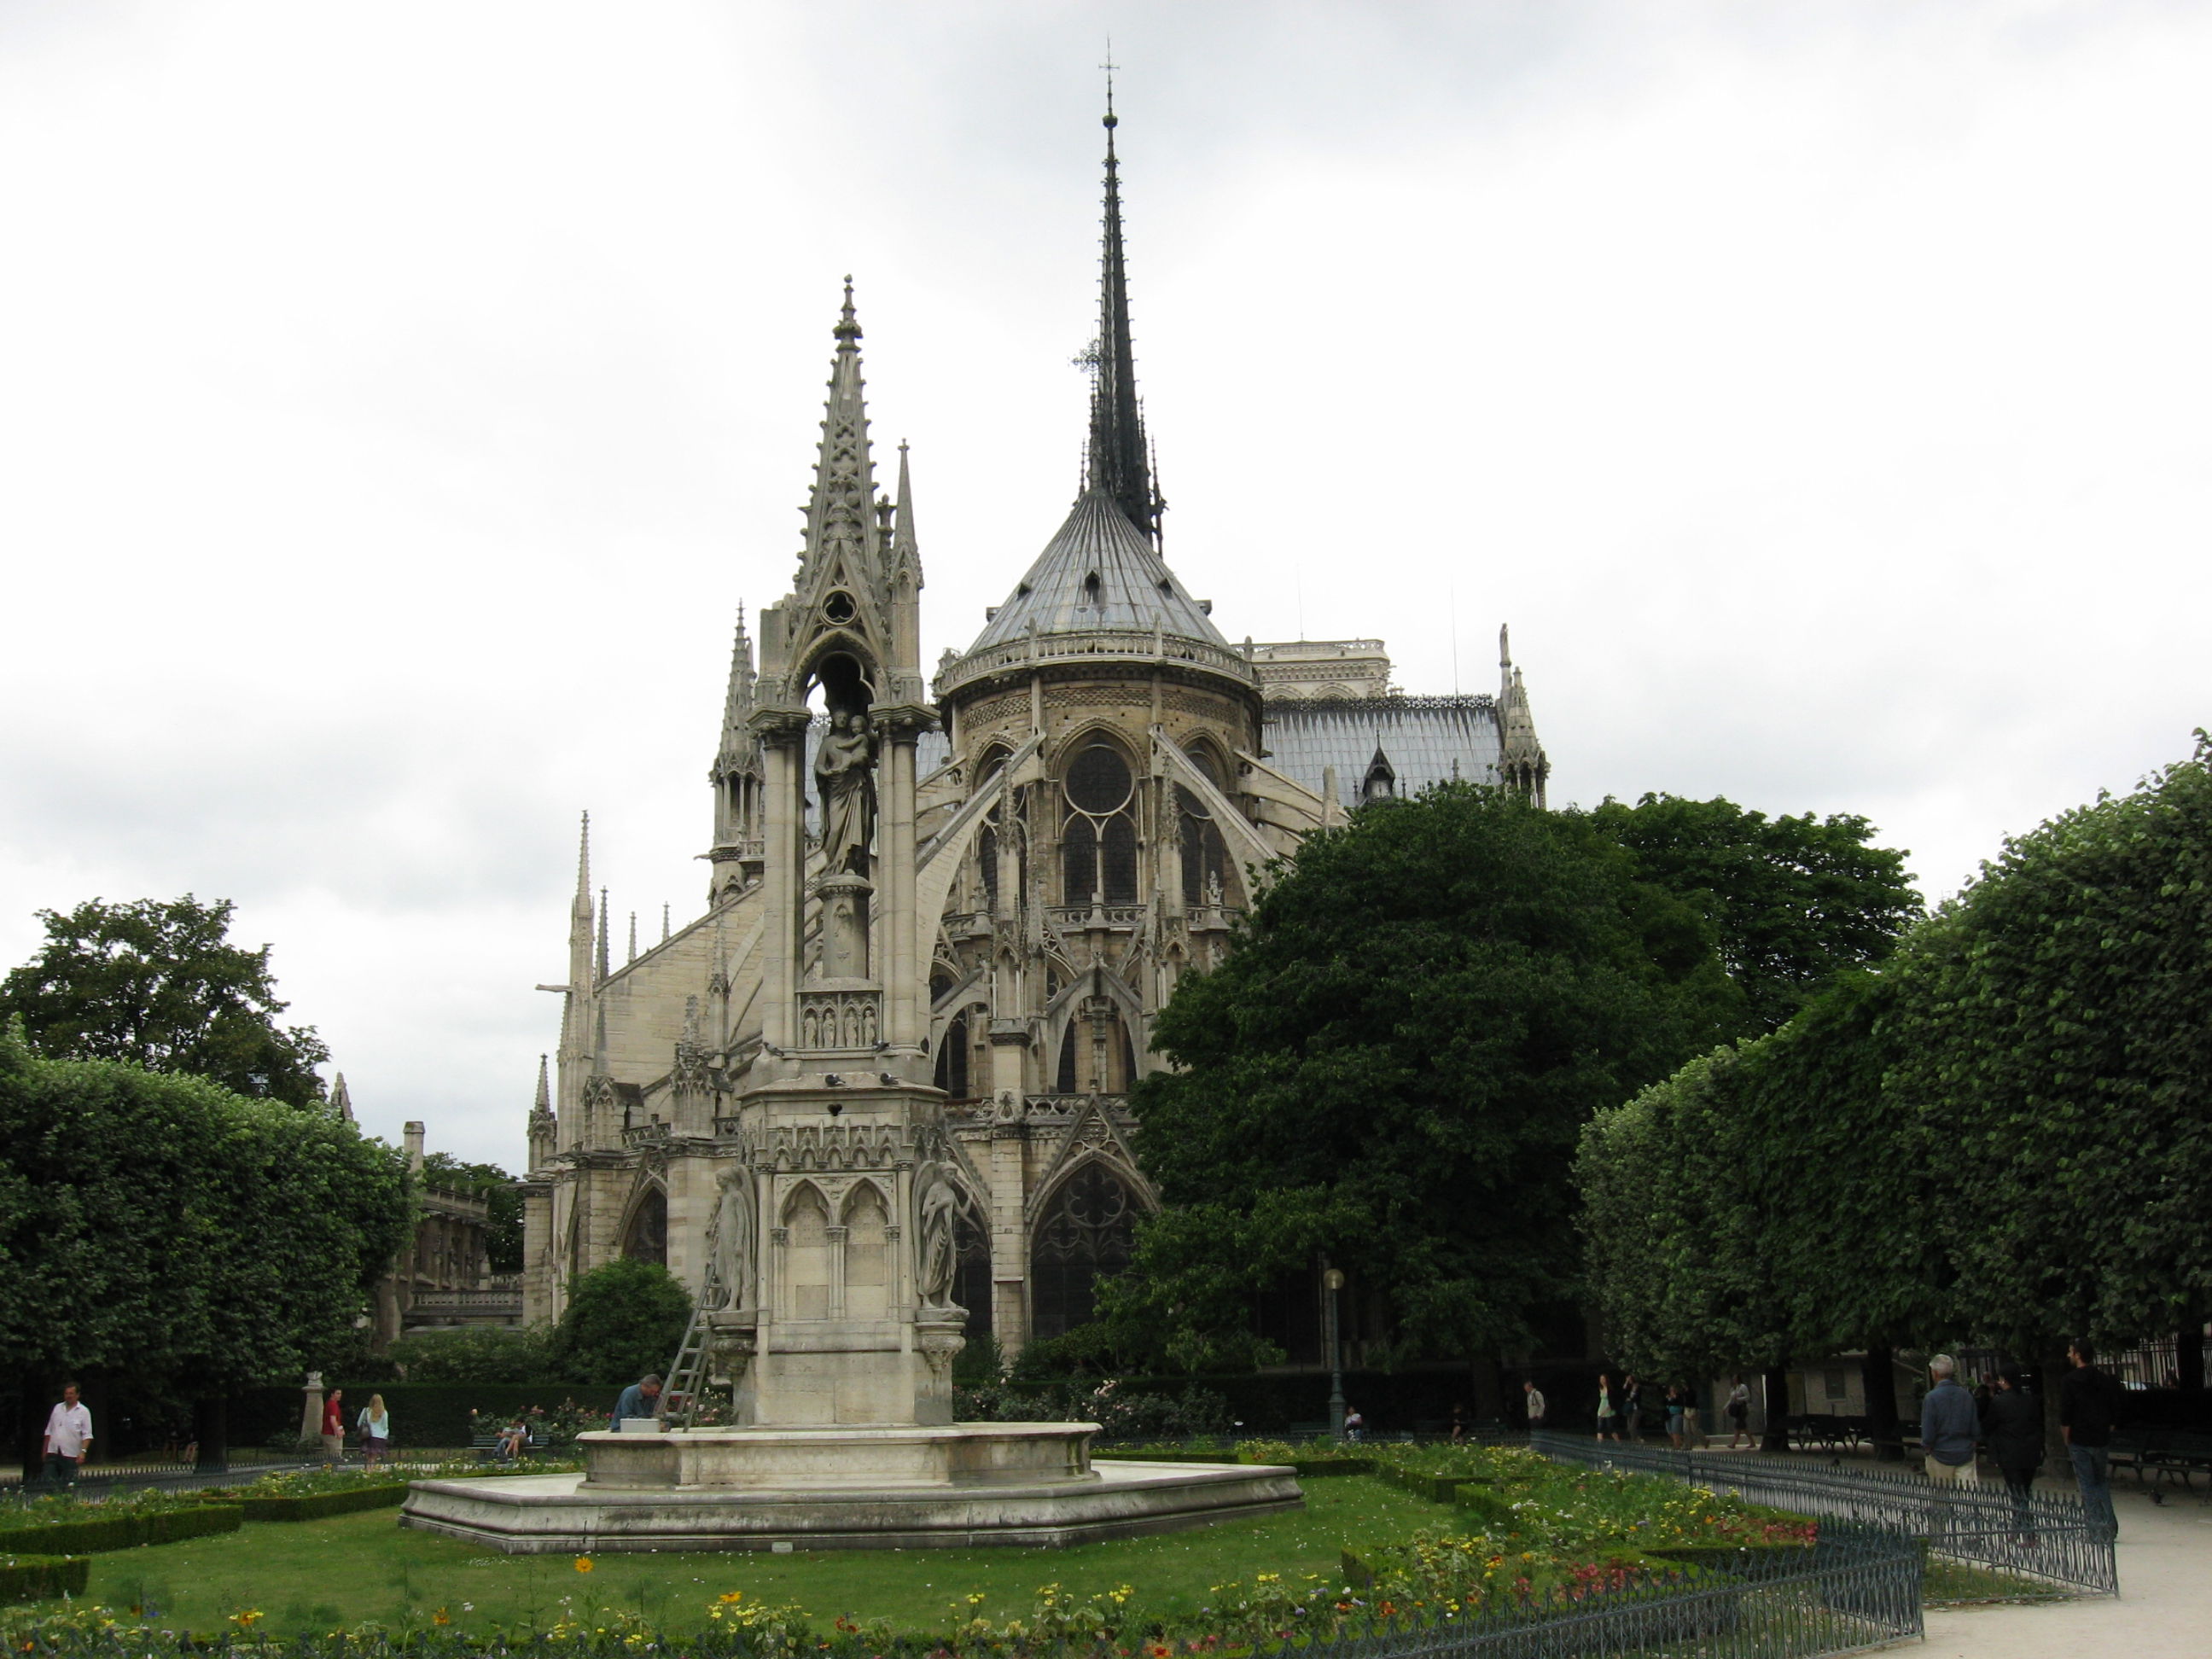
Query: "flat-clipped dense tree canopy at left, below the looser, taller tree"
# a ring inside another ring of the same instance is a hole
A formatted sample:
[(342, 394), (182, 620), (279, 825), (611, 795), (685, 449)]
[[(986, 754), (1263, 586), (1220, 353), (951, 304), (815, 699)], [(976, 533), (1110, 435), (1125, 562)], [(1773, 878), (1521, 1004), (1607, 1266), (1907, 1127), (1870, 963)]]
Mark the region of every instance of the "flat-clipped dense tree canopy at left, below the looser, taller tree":
[(195, 1394), (319, 1363), (411, 1228), (405, 1159), (201, 1077), (0, 1029), (0, 1367)]

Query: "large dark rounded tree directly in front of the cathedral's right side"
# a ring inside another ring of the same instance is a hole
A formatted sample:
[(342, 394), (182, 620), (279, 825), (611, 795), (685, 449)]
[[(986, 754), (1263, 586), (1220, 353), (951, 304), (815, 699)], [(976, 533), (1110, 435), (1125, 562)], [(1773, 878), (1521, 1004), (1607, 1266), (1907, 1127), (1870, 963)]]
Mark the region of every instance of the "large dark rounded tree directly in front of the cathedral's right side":
[(1250, 1358), (1252, 1292), (1321, 1250), (1396, 1356), (1526, 1345), (1573, 1292), (1582, 1124), (1741, 1018), (1697, 916), (1588, 816), (1471, 785), (1367, 807), (1161, 1011), (1175, 1071), (1133, 1108), (1166, 1210), (1110, 1318)]

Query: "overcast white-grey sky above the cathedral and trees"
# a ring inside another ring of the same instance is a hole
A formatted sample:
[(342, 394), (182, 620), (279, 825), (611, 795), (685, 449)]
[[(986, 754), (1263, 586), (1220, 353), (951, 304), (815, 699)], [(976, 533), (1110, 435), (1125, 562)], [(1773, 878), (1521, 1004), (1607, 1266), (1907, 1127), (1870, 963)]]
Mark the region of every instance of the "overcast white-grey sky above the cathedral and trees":
[(234, 898), (372, 1130), (520, 1168), (575, 814), (703, 900), (845, 272), (925, 661), (1064, 515), (1108, 33), (1232, 639), (1511, 622), (1555, 801), (1931, 896), (2212, 721), (2208, 7), (0, 0), (0, 964)]

